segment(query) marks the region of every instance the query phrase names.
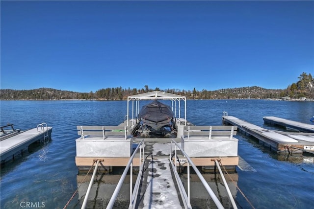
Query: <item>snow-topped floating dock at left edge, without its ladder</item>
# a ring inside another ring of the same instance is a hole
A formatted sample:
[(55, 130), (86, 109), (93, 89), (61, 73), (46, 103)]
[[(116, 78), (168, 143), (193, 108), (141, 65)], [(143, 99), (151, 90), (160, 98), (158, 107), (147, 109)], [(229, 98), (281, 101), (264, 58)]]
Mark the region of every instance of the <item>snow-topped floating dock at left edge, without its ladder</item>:
[[(52, 127), (45, 127), (45, 131), (33, 128), (0, 141), (1, 164), (14, 160), (17, 156), (23, 155), (28, 146), (36, 141), (51, 139)], [(46, 138), (46, 139), (45, 139)]]

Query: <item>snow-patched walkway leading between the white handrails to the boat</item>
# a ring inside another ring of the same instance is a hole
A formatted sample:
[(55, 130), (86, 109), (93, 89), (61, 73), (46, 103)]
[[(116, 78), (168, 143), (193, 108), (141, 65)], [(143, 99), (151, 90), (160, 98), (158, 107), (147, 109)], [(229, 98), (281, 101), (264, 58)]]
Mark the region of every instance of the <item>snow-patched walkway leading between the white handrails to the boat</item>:
[(144, 173), (135, 208), (184, 208), (176, 181), (173, 179), (169, 156), (163, 146), (170, 144), (147, 142), (145, 152), (151, 153), (144, 163)]

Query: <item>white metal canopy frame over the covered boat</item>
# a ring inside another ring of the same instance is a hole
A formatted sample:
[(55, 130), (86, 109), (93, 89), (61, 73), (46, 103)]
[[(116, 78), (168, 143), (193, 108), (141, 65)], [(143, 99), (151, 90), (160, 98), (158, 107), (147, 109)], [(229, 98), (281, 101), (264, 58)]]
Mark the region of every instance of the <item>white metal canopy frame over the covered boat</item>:
[[(173, 93), (166, 93), (166, 92), (160, 92), (160, 91), (154, 91), (154, 92), (148, 92), (148, 93), (140, 93), (136, 94), (133, 96), (128, 96), (128, 114), (127, 114), (127, 125), (129, 126), (129, 120), (131, 119), (129, 116), (129, 102), (132, 101), (132, 125), (133, 125), (133, 119), (134, 119), (134, 111), (135, 111), (135, 117), (139, 113), (140, 105), (139, 102), (140, 100), (171, 100), (171, 109), (174, 112), (175, 118), (177, 118), (177, 102), (178, 102), (178, 115), (179, 119), (182, 120), (181, 118), (181, 103), (180, 101), (184, 101), (184, 124), (186, 125), (186, 97), (173, 94)], [(135, 101), (135, 104), (134, 104)], [(177, 119), (178, 119), (177, 118)]]

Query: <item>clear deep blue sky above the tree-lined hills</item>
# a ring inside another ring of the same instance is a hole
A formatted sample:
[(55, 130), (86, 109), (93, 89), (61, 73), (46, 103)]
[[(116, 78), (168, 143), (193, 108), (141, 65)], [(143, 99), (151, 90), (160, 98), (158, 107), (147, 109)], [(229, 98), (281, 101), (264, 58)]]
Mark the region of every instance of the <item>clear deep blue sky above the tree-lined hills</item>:
[(1, 89), (286, 89), (314, 1), (0, 1)]

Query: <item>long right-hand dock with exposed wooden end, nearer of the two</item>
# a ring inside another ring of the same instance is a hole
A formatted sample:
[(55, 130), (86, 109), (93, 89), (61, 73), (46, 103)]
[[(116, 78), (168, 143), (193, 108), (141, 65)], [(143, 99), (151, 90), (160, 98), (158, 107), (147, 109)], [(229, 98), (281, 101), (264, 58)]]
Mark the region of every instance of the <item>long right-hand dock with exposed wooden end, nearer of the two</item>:
[(268, 130), (224, 113), (224, 124), (232, 124), (239, 131), (260, 140), (264, 146), (278, 154), (302, 155), (303, 152), (314, 153), (314, 133), (293, 133)]

